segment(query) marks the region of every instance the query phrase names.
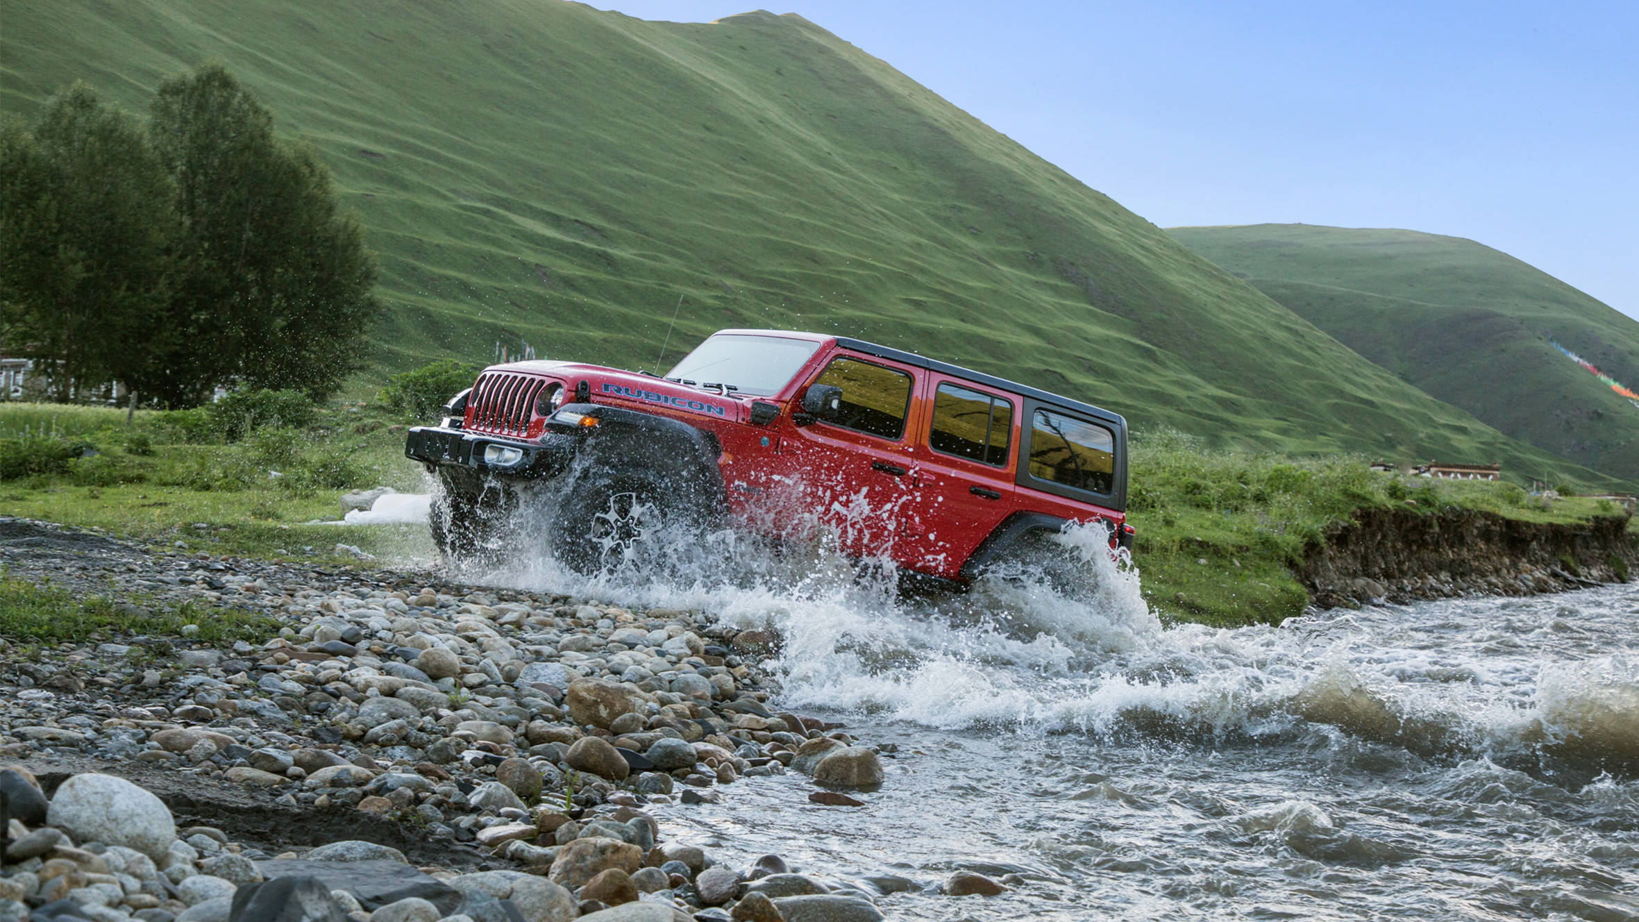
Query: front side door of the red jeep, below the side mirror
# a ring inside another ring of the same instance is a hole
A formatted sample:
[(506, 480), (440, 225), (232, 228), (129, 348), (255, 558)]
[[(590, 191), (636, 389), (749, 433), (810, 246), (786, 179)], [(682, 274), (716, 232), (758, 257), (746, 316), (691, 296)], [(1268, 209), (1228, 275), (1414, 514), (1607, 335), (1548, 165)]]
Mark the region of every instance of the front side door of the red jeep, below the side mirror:
[(782, 532), (801, 533), (811, 522), (836, 533), (847, 555), (900, 556), (893, 553), (898, 520), (915, 494), (911, 397), (923, 374), (915, 366), (838, 351), (810, 379), (810, 386), (842, 389), (841, 413), (785, 438), (782, 466), (800, 500), (787, 505), (795, 517)]

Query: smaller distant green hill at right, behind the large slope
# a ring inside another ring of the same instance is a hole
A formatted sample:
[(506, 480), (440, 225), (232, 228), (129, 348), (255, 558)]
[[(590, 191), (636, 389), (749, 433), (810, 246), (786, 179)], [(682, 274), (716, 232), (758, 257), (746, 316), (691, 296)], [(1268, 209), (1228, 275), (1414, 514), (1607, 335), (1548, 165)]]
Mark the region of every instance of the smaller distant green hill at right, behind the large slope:
[(1639, 407), (1559, 341), (1639, 387), (1639, 323), (1454, 236), (1311, 225), (1174, 228), (1354, 351), (1498, 430), (1639, 479)]

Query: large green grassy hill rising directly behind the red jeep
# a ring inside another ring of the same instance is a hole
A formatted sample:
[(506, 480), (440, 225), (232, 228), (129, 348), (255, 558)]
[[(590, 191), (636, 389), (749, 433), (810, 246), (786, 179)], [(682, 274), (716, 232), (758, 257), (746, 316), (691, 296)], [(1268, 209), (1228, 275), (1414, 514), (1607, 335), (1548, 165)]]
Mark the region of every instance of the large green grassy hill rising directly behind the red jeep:
[(225, 61), (364, 220), (377, 376), (498, 341), (656, 367), (677, 308), (672, 359), (721, 326), (836, 331), (1214, 445), (1591, 477), (800, 16), (10, 0), (0, 43), (0, 103), (25, 115), (74, 79), (141, 112), (162, 75)]

